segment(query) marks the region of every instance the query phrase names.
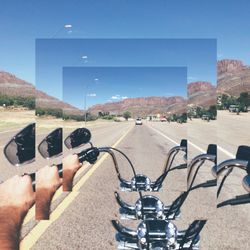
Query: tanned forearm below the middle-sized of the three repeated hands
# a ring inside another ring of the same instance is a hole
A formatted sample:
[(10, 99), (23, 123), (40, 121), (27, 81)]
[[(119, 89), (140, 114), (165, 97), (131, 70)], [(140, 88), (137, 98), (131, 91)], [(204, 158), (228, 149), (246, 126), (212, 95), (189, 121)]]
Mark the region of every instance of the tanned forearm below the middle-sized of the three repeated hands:
[(36, 190), (36, 220), (48, 220), (50, 204), (54, 193), (45, 188)]

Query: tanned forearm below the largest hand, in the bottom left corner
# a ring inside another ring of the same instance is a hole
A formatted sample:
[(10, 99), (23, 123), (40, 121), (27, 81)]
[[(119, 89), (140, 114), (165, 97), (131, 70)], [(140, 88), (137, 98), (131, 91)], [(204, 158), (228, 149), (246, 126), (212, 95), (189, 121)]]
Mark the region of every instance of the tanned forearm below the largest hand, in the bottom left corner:
[(0, 208), (0, 248), (19, 249), (20, 230), (26, 213), (19, 207)]

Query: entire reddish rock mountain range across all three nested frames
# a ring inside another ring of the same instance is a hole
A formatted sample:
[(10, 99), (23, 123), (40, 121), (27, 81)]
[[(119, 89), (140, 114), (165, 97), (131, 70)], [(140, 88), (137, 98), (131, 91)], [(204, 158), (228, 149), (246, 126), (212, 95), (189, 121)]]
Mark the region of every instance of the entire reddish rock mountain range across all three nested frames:
[[(250, 91), (250, 67), (239, 60), (218, 61), (217, 94), (238, 96), (244, 91)], [(82, 114), (81, 110), (36, 90), (34, 85), (3, 71), (0, 71), (0, 94), (34, 96), (39, 107), (61, 108), (69, 113)], [(199, 81), (188, 84), (188, 104), (204, 107), (216, 104), (217, 94), (215, 86), (209, 82)], [(145, 116), (153, 113), (184, 112), (185, 103), (186, 100), (182, 97), (128, 98), (120, 102), (95, 105), (90, 108), (90, 111), (93, 113), (109, 111), (118, 114), (129, 110), (135, 116)]]

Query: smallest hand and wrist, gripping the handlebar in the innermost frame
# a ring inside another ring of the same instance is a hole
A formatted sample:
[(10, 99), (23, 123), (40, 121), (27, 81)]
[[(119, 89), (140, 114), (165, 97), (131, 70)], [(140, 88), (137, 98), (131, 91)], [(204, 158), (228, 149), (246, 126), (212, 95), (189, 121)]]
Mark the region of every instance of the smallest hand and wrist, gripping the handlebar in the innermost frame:
[(76, 154), (63, 159), (63, 191), (72, 191), (74, 176), (81, 166)]

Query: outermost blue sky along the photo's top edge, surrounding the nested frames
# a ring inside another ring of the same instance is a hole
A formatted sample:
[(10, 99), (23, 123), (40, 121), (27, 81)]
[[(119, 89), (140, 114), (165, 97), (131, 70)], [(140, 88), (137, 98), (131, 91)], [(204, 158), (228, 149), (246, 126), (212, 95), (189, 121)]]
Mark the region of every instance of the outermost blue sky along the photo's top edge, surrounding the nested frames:
[[(35, 81), (36, 38), (217, 38), (250, 64), (249, 0), (2, 0), (0, 69)], [(73, 25), (72, 32), (61, 29)], [(56, 33), (56, 34), (55, 34)]]

